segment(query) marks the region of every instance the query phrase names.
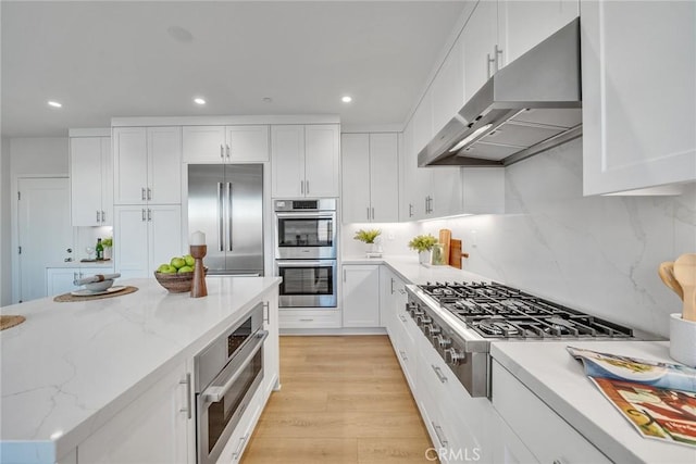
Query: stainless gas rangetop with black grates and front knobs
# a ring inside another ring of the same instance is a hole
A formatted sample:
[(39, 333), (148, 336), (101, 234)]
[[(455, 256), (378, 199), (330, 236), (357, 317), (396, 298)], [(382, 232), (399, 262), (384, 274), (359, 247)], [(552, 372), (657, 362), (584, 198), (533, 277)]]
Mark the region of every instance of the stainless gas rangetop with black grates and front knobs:
[(657, 339), (501, 284), (407, 286), (407, 311), (472, 397), (488, 397), (501, 340)]

